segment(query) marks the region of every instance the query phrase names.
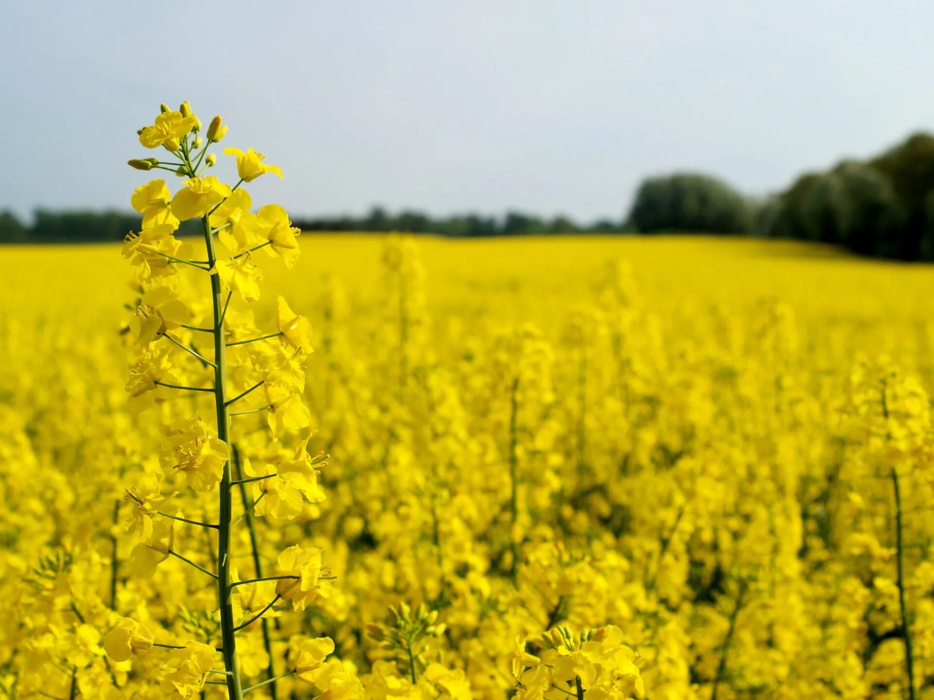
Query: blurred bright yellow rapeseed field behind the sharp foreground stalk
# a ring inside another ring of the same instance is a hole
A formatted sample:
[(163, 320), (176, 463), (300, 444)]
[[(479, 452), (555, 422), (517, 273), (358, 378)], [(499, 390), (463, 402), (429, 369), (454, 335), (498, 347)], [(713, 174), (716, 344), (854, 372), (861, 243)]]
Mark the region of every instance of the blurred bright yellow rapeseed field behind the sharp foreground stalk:
[[(298, 614), (263, 613), (293, 595), (276, 581), (234, 589), (256, 598), (234, 595), (240, 620), (260, 613), (236, 642), (243, 685), (267, 678), (266, 648), (286, 674), (249, 697), (357, 697), (356, 679), (368, 698), (909, 697), (906, 638), (913, 692), (934, 697), (934, 268), (701, 237), (300, 242), (290, 271), (262, 259), (252, 308), (262, 332), (279, 294), (311, 321), (300, 393), (326, 500), (302, 491), (295, 515), (268, 496), (232, 558), (240, 580), (291, 570), (294, 544), (324, 565)], [(218, 517), (160, 466), (213, 394), (128, 403), (131, 278), (118, 245), (0, 248), (7, 698), (198, 697), (165, 684), (185, 650), (158, 644), (220, 646), (215, 586), (154, 544), (174, 522), (173, 552), (218, 564), (210, 530), (155, 512)], [(229, 352), (235, 393), (255, 359)], [(257, 477), (309, 435), (233, 421)], [(157, 475), (178, 496), (140, 514), (124, 489)], [(121, 620), (150, 634), (125, 660)], [(556, 625), (603, 629), (574, 651), (542, 638)], [(327, 673), (294, 669), (325, 636)], [(197, 693), (224, 696), (205, 674)]]

